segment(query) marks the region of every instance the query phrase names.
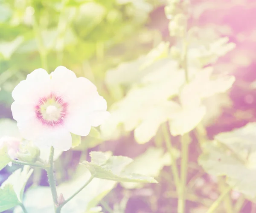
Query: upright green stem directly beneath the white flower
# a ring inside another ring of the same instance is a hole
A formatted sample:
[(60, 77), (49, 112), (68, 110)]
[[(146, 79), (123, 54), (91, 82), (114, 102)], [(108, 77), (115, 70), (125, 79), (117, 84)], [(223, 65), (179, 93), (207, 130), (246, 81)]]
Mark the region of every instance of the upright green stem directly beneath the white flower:
[(58, 195), (57, 195), (57, 190), (56, 190), (56, 186), (55, 186), (55, 180), (54, 180), (54, 176), (53, 176), (53, 155), (54, 155), (54, 148), (51, 147), (50, 150), (50, 155), (49, 155), (49, 167), (47, 168), (47, 175), (48, 175), (48, 180), (49, 180), (49, 185), (51, 187), (51, 191), (52, 191), (52, 199), (55, 205), (55, 208), (58, 206)]

